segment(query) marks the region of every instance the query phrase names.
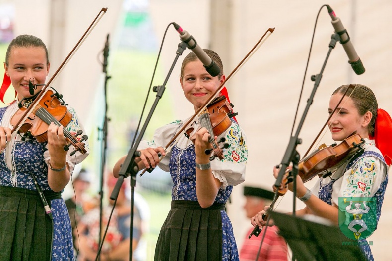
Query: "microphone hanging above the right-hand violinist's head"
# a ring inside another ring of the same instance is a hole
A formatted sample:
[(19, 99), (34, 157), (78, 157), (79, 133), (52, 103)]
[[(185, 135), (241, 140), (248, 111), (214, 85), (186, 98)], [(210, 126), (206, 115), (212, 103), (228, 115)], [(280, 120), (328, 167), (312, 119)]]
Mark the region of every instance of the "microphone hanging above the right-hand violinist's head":
[(335, 12), (331, 7), (329, 7), (329, 5), (327, 5), (327, 10), (329, 16), (332, 18), (332, 26), (335, 29), (335, 32), (340, 36), (340, 44), (342, 44), (344, 51), (346, 51), (348, 56), (348, 63), (351, 64), (351, 67), (356, 74), (359, 75), (364, 73), (365, 68), (363, 67), (361, 59), (358, 57), (357, 52), (355, 52), (355, 49), (350, 42), (350, 36), (348, 35), (347, 30), (344, 29), (342, 22), (338, 17), (336, 17)]

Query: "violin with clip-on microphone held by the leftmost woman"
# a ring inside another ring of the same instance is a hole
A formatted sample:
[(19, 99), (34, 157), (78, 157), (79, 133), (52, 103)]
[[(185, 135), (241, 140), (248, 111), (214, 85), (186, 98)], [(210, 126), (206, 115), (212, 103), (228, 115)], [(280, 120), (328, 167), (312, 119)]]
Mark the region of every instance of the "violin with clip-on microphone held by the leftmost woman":
[[(52, 90), (47, 92), (38, 101), (38, 104), (30, 111), (27, 119), (21, 124), (19, 128), (19, 134), (24, 133), (22, 140), (27, 137), (35, 138), (38, 142), (46, 142), (48, 140), (48, 127), (51, 122), (54, 122), (57, 126), (63, 125), (64, 127), (69, 124), (72, 120), (72, 114), (68, 111), (64, 101), (60, 101), (62, 95), (54, 93)], [(24, 101), (24, 103), (22, 103)], [(15, 126), (23, 118), (26, 110), (33, 103), (33, 99), (22, 100), (19, 104), (19, 110), (11, 118), (11, 125)], [(72, 135), (66, 128), (64, 128), (65, 139), (70, 142), (65, 145), (64, 150), (69, 150), (69, 147), (73, 145), (75, 151), (71, 155), (75, 154), (76, 151), (85, 154), (86, 149), (83, 141), (87, 140), (87, 135), (83, 135), (80, 140), (77, 136), (81, 135), (82, 131), (79, 130), (77, 133)]]

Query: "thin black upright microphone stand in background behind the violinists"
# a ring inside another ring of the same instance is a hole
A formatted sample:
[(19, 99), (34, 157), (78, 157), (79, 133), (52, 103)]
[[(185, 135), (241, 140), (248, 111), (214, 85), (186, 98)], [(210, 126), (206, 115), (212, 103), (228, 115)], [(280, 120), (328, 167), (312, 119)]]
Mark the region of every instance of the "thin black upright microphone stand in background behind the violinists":
[[(108, 76), (107, 66), (108, 66), (108, 56), (109, 56), (109, 34), (106, 36), (105, 48), (103, 50), (103, 67), (102, 72), (105, 74), (105, 83), (104, 83), (104, 120), (102, 129), (98, 127), (98, 132), (102, 132), (102, 143), (101, 143), (101, 184), (99, 188), (99, 239), (98, 246), (101, 245), (101, 235), (102, 235), (102, 212), (103, 212), (103, 184), (104, 184), (104, 175), (105, 175), (105, 162), (106, 162), (106, 149), (107, 149), (107, 137), (108, 137), (108, 121), (109, 118), (107, 116), (108, 112), (108, 103), (107, 103), (107, 83), (111, 76)], [(98, 135), (99, 140), (99, 135)]]

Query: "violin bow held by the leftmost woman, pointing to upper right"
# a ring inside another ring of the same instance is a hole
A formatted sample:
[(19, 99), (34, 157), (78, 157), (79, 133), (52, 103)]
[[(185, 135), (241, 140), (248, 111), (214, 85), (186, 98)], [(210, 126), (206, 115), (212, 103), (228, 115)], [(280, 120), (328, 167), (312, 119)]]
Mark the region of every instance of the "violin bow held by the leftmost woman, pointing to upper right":
[[(35, 98), (35, 100), (30, 104), (30, 106), (28, 107), (28, 109), (26, 109), (26, 111), (24, 112), (23, 116), (20, 118), (20, 120), (15, 124), (15, 126), (13, 127), (12, 131), (11, 131), (11, 139), (13, 139), (16, 134), (18, 133), (19, 129), (21, 128), (21, 123), (25, 122), (26, 119), (28, 118), (28, 116), (30, 115), (31, 111), (35, 108), (35, 106), (38, 104), (38, 102), (40, 101), (40, 99), (44, 96), (44, 94), (46, 93), (49, 85), (52, 83), (52, 81), (56, 78), (56, 76), (59, 74), (59, 72), (64, 68), (65, 64), (68, 63), (68, 61), (70, 60), (70, 58), (76, 53), (76, 51), (79, 49), (79, 47), (81, 46), (81, 44), (84, 42), (84, 40), (87, 38), (87, 36), (91, 33), (91, 31), (94, 29), (94, 27), (97, 25), (97, 23), (99, 22), (99, 20), (101, 20), (102, 16), (106, 13), (106, 10), (108, 8), (102, 8), (98, 15), (95, 17), (95, 19), (93, 20), (93, 22), (90, 24), (90, 26), (87, 28), (86, 32), (84, 32), (84, 34), (82, 35), (82, 37), (79, 39), (79, 41), (76, 43), (75, 47), (71, 50), (71, 52), (69, 52), (69, 54), (65, 57), (65, 60), (62, 62), (62, 64), (59, 66), (59, 68), (57, 69), (57, 71), (53, 74), (53, 76), (49, 79), (49, 81), (47, 82), (47, 84), (45, 84), (45, 86), (42, 88), (41, 92), (39, 93), (39, 95), (37, 96), (37, 98)], [(8, 143), (7, 143), (8, 145)], [(7, 146), (6, 145), (6, 146)]]

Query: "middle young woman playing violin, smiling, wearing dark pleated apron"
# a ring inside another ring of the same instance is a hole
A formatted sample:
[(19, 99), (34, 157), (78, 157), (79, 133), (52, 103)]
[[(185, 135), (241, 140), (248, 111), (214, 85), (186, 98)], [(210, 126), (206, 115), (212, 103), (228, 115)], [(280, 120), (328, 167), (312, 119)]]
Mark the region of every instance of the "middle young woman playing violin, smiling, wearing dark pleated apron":
[[(221, 73), (212, 77), (193, 52), (182, 63), (180, 84), (184, 95), (195, 111), (208, 101), (225, 80), (220, 57), (205, 50), (220, 67)], [(155, 260), (239, 260), (233, 227), (225, 211), (233, 185), (245, 179), (248, 149), (245, 134), (232, 118), (232, 124), (220, 137), (230, 147), (223, 151), (223, 159), (210, 161), (205, 154), (211, 148), (208, 138), (214, 136), (202, 127), (194, 141), (179, 135), (172, 150), (162, 148), (186, 121), (175, 121), (156, 130), (154, 141), (141, 144), (139, 169), (145, 166), (170, 171), (173, 179), (171, 210), (161, 228), (155, 249)], [(165, 155), (159, 162), (158, 153)], [(113, 171), (118, 176), (122, 157)]]

